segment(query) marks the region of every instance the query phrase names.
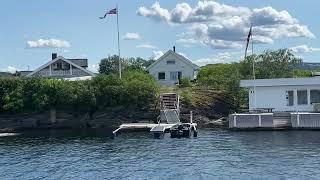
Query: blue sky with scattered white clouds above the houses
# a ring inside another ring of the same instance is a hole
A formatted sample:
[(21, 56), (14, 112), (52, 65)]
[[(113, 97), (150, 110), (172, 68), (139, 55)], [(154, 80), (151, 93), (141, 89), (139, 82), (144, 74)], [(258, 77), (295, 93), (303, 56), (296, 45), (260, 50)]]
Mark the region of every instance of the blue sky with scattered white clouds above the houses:
[[(320, 62), (319, 0), (2, 0), (0, 71), (34, 70), (51, 53), (87, 58), (97, 71), (117, 54), (158, 58), (176, 51), (200, 66), (244, 56), (252, 25), (253, 51), (289, 48), (304, 62)], [(251, 49), (250, 49), (251, 52)]]

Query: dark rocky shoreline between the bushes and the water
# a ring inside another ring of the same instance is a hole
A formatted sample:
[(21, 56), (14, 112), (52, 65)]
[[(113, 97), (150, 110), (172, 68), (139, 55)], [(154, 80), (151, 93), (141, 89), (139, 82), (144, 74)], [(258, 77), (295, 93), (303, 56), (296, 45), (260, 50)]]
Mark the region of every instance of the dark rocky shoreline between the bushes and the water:
[[(83, 128), (111, 128), (115, 129), (122, 123), (155, 122), (158, 113), (150, 111), (104, 111), (93, 115), (72, 112), (56, 112), (56, 119), (52, 122), (50, 111), (38, 113), (0, 114), (0, 133), (20, 132), (25, 130), (44, 129), (83, 129)], [(189, 122), (190, 114), (181, 113), (181, 121)], [(226, 127), (225, 122), (217, 122), (196, 111), (193, 122), (198, 128)]]

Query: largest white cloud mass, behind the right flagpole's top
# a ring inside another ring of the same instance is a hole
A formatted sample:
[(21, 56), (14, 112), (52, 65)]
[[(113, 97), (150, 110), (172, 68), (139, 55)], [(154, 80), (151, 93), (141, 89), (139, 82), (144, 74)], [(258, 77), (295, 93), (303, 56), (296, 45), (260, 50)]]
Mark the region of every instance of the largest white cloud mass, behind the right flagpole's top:
[(255, 43), (271, 44), (280, 38), (315, 37), (288, 11), (270, 6), (250, 9), (217, 1), (199, 1), (193, 7), (178, 3), (170, 10), (156, 2), (150, 8), (140, 7), (137, 14), (167, 24), (190, 24), (177, 42), (199, 43), (215, 49), (243, 47), (251, 23)]

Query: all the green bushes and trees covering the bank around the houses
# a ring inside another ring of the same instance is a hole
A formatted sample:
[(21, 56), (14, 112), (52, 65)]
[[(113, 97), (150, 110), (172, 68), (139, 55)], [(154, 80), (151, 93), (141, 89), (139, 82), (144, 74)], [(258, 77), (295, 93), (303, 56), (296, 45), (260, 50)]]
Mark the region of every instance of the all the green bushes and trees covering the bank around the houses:
[(88, 81), (0, 78), (0, 112), (157, 112), (159, 93), (177, 92), (182, 97), (183, 113), (192, 110), (215, 119), (248, 108), (247, 90), (240, 88), (239, 82), (253, 78), (253, 60), (257, 79), (311, 76), (310, 71), (296, 69), (301, 59), (280, 49), (251, 55), (237, 63), (209, 64), (200, 68), (196, 82), (182, 79), (178, 87), (160, 89), (144, 71), (153, 60), (122, 59), (122, 79), (118, 78), (117, 60), (117, 56), (102, 59), (99, 74)]

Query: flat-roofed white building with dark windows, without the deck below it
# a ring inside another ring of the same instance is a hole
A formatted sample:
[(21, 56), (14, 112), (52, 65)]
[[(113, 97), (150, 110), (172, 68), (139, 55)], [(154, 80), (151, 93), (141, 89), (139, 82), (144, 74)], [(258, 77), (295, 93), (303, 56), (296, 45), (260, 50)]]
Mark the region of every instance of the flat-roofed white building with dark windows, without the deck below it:
[(320, 103), (320, 77), (242, 80), (240, 87), (249, 88), (250, 110), (309, 112)]

